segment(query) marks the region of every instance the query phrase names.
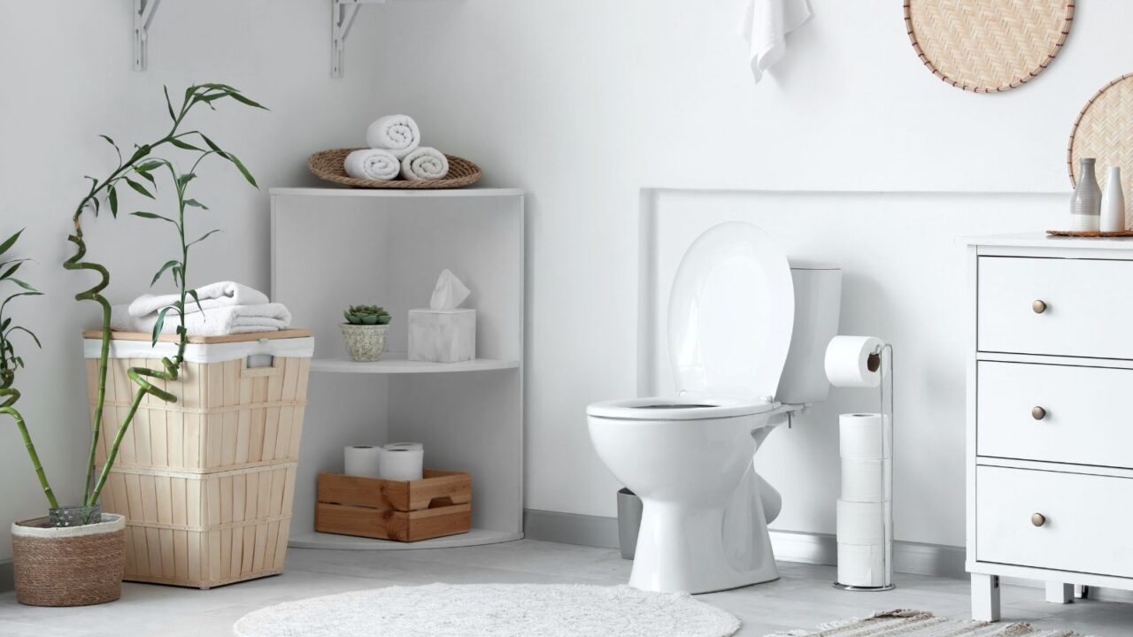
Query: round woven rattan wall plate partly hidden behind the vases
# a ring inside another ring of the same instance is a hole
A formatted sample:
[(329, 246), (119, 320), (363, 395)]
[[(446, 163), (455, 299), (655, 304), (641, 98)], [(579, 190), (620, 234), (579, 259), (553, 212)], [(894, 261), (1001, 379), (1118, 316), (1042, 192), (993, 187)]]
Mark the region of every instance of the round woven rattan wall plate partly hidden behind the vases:
[[(1077, 185), (1079, 160), (1097, 159), (1098, 184), (1105, 188), (1108, 168), (1122, 169), (1122, 189), (1133, 186), (1133, 73), (1125, 74), (1094, 93), (1074, 120), (1066, 147), (1066, 171)], [(1133, 199), (1127, 199), (1133, 204)]]

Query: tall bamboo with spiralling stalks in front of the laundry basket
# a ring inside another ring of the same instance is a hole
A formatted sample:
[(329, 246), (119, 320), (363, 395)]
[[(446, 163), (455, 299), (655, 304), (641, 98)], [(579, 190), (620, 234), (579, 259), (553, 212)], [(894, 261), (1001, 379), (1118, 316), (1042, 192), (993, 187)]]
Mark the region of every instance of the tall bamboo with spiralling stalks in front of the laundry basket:
[[(188, 187), (189, 184), (196, 179), (197, 169), (206, 158), (220, 158), (221, 160), (224, 160), (233, 165), (240, 175), (244, 176), (244, 179), (247, 180), (248, 184), (253, 187), (258, 187), (255, 178), (235, 154), (222, 150), (201, 130), (186, 130), (185, 120), (195, 108), (202, 104), (215, 110), (214, 103), (221, 100), (231, 100), (257, 109), (263, 109), (263, 105), (246, 97), (239, 90), (227, 84), (197, 84), (189, 86), (185, 90), (185, 94), (180, 101), (180, 105), (178, 107), (174, 107), (168, 90), (164, 91), (164, 95), (165, 107), (169, 112), (171, 125), (169, 131), (157, 141), (148, 144), (136, 145), (134, 151), (127, 158), (122, 154), (121, 148), (114, 143), (113, 139), (105, 135), (101, 136), (114, 148), (118, 159), (117, 165), (110, 175), (103, 179), (96, 179), (94, 177), (86, 178), (90, 181), (90, 188), (86, 195), (75, 207), (75, 212), (71, 215), (74, 231), (69, 237), (67, 237), (67, 239), (74, 244), (75, 253), (63, 263), (63, 266), (67, 270), (76, 272), (93, 272), (99, 278), (94, 286), (77, 294), (75, 298), (78, 301), (96, 303), (102, 308), (102, 342), (99, 356), (97, 376), (99, 385), (92, 421), (91, 448), (86, 460), (86, 478), (83, 484), (82, 504), (84, 507), (93, 507), (97, 503), (102, 489), (105, 486), (107, 478), (110, 475), (110, 469), (118, 456), (118, 449), (121, 444), (122, 438), (126, 435), (126, 432), (128, 431), (130, 423), (134, 421), (134, 416), (146, 394), (153, 396), (165, 402), (177, 401), (176, 396), (155, 387), (150, 382), (150, 380), (159, 379), (172, 382), (179, 377), (181, 364), (184, 362), (185, 348), (188, 343), (188, 332), (185, 328), (185, 307), (191, 298), (199, 308), (197, 294), (195, 290), (189, 289), (187, 283), (189, 249), (194, 245), (208, 238), (212, 233), (216, 232), (216, 230), (210, 230), (193, 240), (188, 240), (188, 235), (186, 233), (186, 212), (189, 209), (207, 210), (204, 204), (188, 196)], [(187, 172), (181, 172), (172, 161), (156, 154), (159, 151), (165, 150), (180, 150), (191, 153), (194, 156), (191, 168)], [(157, 190), (157, 177), (163, 177), (167, 173), (177, 195), (176, 215), (164, 215), (150, 211), (135, 211), (130, 214), (142, 219), (167, 222), (176, 228), (180, 247), (179, 254), (174, 258), (165, 262), (157, 270), (153, 277), (151, 286), (156, 284), (157, 281), (160, 281), (168, 273), (178, 288), (179, 300), (161, 308), (157, 315), (156, 324), (153, 329), (153, 343), (156, 345), (163, 332), (168, 314), (172, 312), (179, 318), (179, 324), (176, 328), (176, 334), (178, 337), (177, 354), (173, 357), (162, 358), (160, 370), (153, 370), (150, 367), (131, 367), (128, 370), (127, 375), (137, 385), (137, 390), (134, 393), (134, 398), (126, 413), (126, 417), (118, 425), (117, 432), (114, 432), (111, 447), (107, 452), (107, 458), (102, 465), (101, 472), (95, 475), (95, 450), (97, 449), (99, 439), (102, 435), (101, 428), (103, 424), (103, 408), (107, 396), (107, 372), (109, 367), (111, 340), (110, 301), (102, 296), (102, 291), (110, 284), (110, 272), (102, 264), (85, 261), (87, 246), (83, 235), (84, 215), (97, 216), (101, 210), (109, 209), (111, 215), (117, 218), (120, 206), (119, 197), (121, 194), (126, 193), (140, 195), (142, 197), (151, 199), (151, 203), (156, 203), (156, 196), (154, 193)], [(56, 507), (54, 501), (52, 501), (52, 507)]]

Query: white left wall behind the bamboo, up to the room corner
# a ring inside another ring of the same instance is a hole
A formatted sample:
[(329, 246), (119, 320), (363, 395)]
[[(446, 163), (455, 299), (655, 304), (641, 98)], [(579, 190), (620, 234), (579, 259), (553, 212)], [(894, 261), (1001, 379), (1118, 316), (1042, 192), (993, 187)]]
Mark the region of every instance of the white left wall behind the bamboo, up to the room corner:
[[(270, 186), (314, 184), (306, 156), (351, 143), (373, 119), (374, 85), (364, 73), (376, 43), (358, 37), (348, 53), (347, 80), (330, 78), (329, 2), (308, 0), (194, 0), (162, 2), (151, 31), (150, 70), (133, 70), (128, 0), (0, 2), (0, 233), (26, 227), (22, 252), (39, 263), (24, 274), (49, 296), (15, 307), (19, 321), (44, 339), (27, 351), (22, 374), (27, 417), (40, 457), (61, 501), (75, 502), (87, 444), (85, 381), (78, 333), (99, 324), (94, 304), (71, 296), (86, 277), (66, 272), (66, 241), (83, 175), (105, 175), (120, 144), (157, 138), (168, 128), (162, 84), (174, 94), (194, 82), (224, 82), (262, 101), (270, 112), (218, 107), (193, 125), (239, 155), (259, 192), (227, 167), (213, 165), (194, 185), (213, 212), (197, 218), (202, 231), (224, 232), (201, 245), (190, 283), (239, 279), (267, 289)], [(364, 11), (366, 14), (366, 11)], [(361, 15), (359, 33), (376, 16)], [(163, 199), (170, 210), (169, 188)], [(127, 210), (142, 206), (130, 198)], [(125, 207), (125, 202), (123, 202)], [(176, 247), (169, 229), (135, 218), (87, 219), (92, 258), (112, 273), (108, 296), (126, 300), (143, 291)], [(313, 264), (317, 265), (317, 264)], [(10, 554), (9, 521), (42, 515), (43, 496), (23, 444), (0, 422), (0, 559)]]

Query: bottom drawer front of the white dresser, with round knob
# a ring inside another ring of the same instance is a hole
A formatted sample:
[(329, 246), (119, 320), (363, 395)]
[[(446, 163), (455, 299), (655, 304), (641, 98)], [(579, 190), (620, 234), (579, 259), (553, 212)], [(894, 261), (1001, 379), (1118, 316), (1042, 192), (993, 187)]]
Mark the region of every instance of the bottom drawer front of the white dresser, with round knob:
[(976, 485), (977, 560), (1133, 577), (1133, 479), (977, 467)]

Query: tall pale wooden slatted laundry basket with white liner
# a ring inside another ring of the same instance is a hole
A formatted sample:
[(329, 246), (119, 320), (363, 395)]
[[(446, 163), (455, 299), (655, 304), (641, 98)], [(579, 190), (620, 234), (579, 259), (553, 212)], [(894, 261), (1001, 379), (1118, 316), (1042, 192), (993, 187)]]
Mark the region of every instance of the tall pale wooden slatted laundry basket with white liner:
[[(101, 341), (85, 337), (93, 413)], [(172, 341), (114, 334), (100, 466), (137, 389), (127, 370), (160, 368)], [(178, 401), (145, 397), (102, 492), (103, 510), (127, 518), (125, 579), (211, 588), (282, 572), (314, 339), (287, 330), (189, 343), (178, 381), (155, 382)]]

